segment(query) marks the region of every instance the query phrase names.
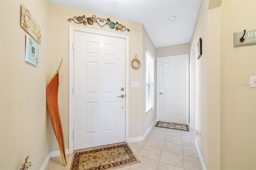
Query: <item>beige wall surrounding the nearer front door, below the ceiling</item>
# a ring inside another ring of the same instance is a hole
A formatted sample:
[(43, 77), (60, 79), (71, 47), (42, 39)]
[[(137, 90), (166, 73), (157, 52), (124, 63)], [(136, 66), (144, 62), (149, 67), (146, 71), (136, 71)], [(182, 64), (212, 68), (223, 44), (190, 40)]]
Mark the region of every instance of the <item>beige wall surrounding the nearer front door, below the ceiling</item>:
[[(55, 71), (55, 68), (58, 67), (58, 64), (63, 57), (62, 67), (60, 69), (60, 85), (59, 85), (59, 110), (60, 117), (63, 122), (62, 128), (64, 131), (64, 138), (66, 148), (68, 148), (68, 28), (69, 25), (80, 26), (84, 28), (90, 28), (94, 30), (102, 30), (106, 32), (113, 32), (116, 34), (125, 34), (129, 36), (130, 44), (129, 44), (129, 62), (131, 63), (132, 59), (136, 54), (138, 59), (140, 59), (142, 65), (144, 65), (143, 60), (143, 52), (142, 52), (142, 24), (130, 22), (127, 20), (121, 20), (118, 18), (110, 18), (114, 22), (119, 22), (126, 26), (126, 28), (130, 29), (130, 32), (121, 32), (110, 29), (108, 26), (100, 27), (98, 24), (94, 25), (82, 25), (76, 24), (74, 22), (68, 22), (68, 18), (73, 18), (74, 16), (86, 15), (90, 17), (92, 15), (96, 15), (99, 18), (108, 18), (108, 16), (102, 16), (100, 14), (95, 14), (91, 12), (85, 12), (82, 10), (77, 10), (73, 8), (68, 8), (64, 6), (59, 6), (55, 4), (49, 4), (50, 11), (50, 22), (49, 25), (50, 37), (52, 40), (50, 42), (50, 57), (51, 57), (51, 65), (54, 68), (52, 71)], [(61, 29), (60, 29), (61, 28)], [(58, 45), (56, 45), (58, 44)], [(129, 80), (130, 81), (139, 81), (139, 88), (130, 88), (129, 89), (129, 137), (140, 137), (143, 135), (143, 117), (144, 117), (144, 105), (145, 102), (143, 96), (143, 67), (139, 69), (133, 69), (129, 64)], [(130, 86), (130, 82), (129, 82)], [(54, 139), (54, 133), (51, 132), (52, 140), (51, 140), (51, 150), (58, 150), (58, 144)]]

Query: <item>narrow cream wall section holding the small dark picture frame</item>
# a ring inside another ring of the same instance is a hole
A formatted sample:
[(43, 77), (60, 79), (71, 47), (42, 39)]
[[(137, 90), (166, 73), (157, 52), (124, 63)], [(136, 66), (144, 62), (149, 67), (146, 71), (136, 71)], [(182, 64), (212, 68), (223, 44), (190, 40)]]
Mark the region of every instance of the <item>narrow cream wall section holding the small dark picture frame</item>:
[(202, 0), (198, 17), (191, 38), (191, 48), (196, 48), (199, 38), (202, 38), (202, 56), (196, 59), (196, 126), (201, 132), (201, 138), (196, 137), (196, 142), (207, 168), (207, 18), (208, 0)]

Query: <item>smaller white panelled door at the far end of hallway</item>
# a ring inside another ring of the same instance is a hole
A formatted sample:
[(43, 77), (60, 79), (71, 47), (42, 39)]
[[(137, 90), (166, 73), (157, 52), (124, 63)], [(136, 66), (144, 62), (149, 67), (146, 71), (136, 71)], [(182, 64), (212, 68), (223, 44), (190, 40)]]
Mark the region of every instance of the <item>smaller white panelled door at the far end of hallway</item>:
[(188, 124), (188, 54), (158, 57), (159, 121)]

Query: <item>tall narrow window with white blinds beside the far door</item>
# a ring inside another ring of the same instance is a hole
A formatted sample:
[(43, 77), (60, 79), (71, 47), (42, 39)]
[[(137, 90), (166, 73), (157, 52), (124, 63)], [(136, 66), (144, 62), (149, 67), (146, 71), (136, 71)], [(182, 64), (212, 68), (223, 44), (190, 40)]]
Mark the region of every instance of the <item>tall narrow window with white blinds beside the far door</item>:
[(154, 108), (154, 59), (146, 52), (146, 113)]

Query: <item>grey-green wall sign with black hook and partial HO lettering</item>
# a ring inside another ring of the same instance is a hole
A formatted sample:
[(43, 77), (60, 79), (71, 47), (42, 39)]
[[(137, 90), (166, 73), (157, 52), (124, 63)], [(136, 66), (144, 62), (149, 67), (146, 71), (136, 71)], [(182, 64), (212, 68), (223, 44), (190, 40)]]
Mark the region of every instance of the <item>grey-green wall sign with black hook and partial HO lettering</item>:
[(256, 30), (244, 30), (234, 33), (234, 47), (256, 45)]

